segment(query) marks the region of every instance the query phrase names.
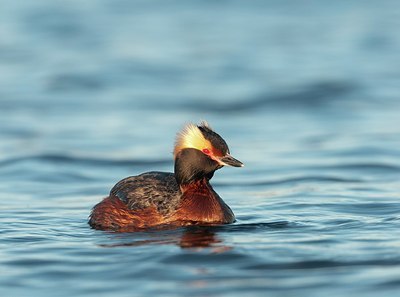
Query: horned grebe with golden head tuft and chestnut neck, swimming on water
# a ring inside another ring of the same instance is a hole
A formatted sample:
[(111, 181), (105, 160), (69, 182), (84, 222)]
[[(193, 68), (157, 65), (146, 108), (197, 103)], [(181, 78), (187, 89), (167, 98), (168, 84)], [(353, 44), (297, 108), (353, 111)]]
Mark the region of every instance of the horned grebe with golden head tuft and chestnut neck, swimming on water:
[(90, 226), (135, 231), (234, 222), (232, 210), (210, 184), (223, 166), (243, 166), (230, 155), (225, 140), (205, 121), (188, 124), (177, 135), (174, 160), (174, 173), (153, 171), (119, 181), (93, 207)]

